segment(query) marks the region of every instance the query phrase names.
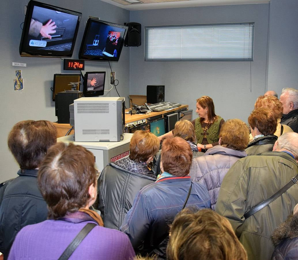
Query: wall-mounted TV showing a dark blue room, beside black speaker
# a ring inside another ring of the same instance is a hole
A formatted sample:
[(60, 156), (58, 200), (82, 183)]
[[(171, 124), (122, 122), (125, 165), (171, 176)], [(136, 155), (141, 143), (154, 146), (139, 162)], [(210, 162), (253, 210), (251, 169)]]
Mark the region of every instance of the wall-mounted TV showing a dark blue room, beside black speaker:
[(89, 18), (83, 35), (79, 59), (119, 60), (128, 26)]

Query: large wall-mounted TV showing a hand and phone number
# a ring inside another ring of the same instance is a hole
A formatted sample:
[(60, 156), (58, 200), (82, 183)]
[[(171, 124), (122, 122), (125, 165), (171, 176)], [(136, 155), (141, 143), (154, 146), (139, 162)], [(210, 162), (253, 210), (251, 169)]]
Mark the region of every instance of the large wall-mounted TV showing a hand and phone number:
[(82, 13), (30, 1), (20, 43), (21, 56), (71, 57)]

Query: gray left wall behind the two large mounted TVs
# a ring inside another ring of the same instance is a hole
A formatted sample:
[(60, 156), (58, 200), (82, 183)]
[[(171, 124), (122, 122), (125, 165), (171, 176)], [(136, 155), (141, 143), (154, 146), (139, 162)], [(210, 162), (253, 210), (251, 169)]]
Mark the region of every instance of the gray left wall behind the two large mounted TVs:
[[(85, 29), (88, 16), (100, 17), (101, 20), (123, 24), (129, 22), (129, 11), (107, 4), (102, 1), (70, 1), (48, 0), (44, 1), (60, 7), (80, 11), (83, 17), (80, 23), (77, 42), (75, 44), (73, 59), (78, 58), (80, 42)], [(94, 4), (96, 2), (96, 4)], [(22, 30), (20, 25), (24, 22), (22, 6), (28, 0), (3, 0), (0, 9), (0, 75), (1, 75), (1, 115), (0, 122), (0, 182), (16, 177), (18, 164), (7, 148), (7, 135), (15, 123), (21, 120), (57, 120), (55, 117), (55, 103), (51, 101), (53, 75), (55, 73), (76, 73), (63, 71), (63, 61), (60, 58), (28, 58), (20, 57), (19, 43)], [(13, 67), (12, 62), (27, 63), (26, 68)], [(116, 71), (119, 79), (117, 90), (120, 96), (125, 98), (129, 95), (129, 48), (123, 48), (119, 62), (112, 62), (111, 67)], [(24, 90), (14, 91), (13, 79), (15, 70), (22, 69), (24, 77)], [(107, 62), (85, 63), (85, 71), (106, 71), (106, 89), (110, 88), (110, 68)], [(116, 97), (114, 89), (105, 92), (105, 96)], [(128, 98), (127, 98), (128, 100)], [(129, 103), (127, 103), (129, 105)]]

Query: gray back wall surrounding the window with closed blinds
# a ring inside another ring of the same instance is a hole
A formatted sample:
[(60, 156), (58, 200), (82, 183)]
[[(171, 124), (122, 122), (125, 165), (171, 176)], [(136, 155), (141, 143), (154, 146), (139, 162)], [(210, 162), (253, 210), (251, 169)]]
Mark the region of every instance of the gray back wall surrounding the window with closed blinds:
[[(143, 41), (130, 48), (130, 94), (146, 95), (147, 85), (161, 84), (166, 101), (191, 109), (198, 97), (207, 95), (216, 114), (247, 122), (254, 101), (266, 90), (268, 12), (269, 4), (131, 11), (130, 21), (142, 24)], [(255, 23), (253, 62), (144, 61), (145, 26), (234, 22)]]

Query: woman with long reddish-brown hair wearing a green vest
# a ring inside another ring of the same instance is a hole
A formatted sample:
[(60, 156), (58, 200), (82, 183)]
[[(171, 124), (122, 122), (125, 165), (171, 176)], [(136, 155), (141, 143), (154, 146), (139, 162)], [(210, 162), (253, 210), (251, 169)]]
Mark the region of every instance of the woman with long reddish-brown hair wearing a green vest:
[[(211, 97), (202, 96), (197, 99), (198, 118), (192, 121), (195, 127), (196, 141), (199, 151), (206, 152), (207, 149), (218, 145), (219, 131), (224, 119), (215, 114), (214, 103)], [(173, 136), (170, 131), (166, 134), (159, 136), (159, 140)]]

